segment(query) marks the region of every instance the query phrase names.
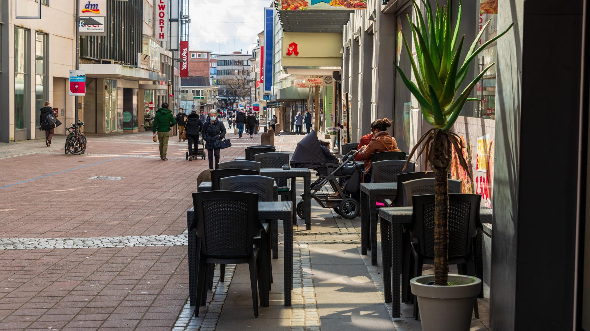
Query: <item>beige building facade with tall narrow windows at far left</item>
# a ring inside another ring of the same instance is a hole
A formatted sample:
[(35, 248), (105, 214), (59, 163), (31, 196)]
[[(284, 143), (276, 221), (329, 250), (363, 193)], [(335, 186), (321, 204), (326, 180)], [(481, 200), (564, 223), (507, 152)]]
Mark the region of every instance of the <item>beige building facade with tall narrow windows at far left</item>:
[[(45, 138), (40, 108), (45, 101), (64, 124), (74, 123), (74, 98), (68, 71), (75, 68), (73, 0), (41, 2), (42, 19), (17, 19), (37, 13), (38, 3), (0, 1), (0, 141)], [(47, 19), (55, 24), (45, 24)], [(64, 134), (65, 125), (56, 129)]]

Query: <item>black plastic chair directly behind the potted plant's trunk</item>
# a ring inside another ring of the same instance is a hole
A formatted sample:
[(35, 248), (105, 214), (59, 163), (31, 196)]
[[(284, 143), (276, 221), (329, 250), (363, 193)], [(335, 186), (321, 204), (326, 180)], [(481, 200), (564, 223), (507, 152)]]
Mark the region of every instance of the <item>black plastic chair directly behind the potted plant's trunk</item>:
[[(413, 196), (412, 223), (408, 228), (413, 242), (414, 273), (408, 280), (422, 275), (424, 264), (434, 264), (434, 194)], [(448, 194), (448, 264), (457, 264), (460, 274), (476, 276), (475, 237), (481, 229), (480, 194)], [(414, 297), (414, 319), (418, 319), (418, 300)], [(474, 312), (479, 318), (477, 297)]]

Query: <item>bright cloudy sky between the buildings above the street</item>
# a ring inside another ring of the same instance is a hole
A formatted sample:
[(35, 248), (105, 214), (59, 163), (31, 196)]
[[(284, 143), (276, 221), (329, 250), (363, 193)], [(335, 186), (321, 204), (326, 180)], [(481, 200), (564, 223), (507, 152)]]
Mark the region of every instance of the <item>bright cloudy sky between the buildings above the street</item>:
[(190, 0), (189, 47), (221, 53), (250, 52), (263, 31), (271, 0)]

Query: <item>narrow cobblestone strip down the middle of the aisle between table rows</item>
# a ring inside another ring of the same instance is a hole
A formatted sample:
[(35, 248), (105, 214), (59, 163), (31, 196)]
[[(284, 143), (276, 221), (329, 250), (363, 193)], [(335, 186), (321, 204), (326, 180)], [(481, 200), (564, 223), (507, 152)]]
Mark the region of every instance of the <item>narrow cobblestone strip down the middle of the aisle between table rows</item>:
[(307, 244), (293, 245), (293, 296), (291, 330), (319, 331), (316, 290), (313, 287), (312, 263)]

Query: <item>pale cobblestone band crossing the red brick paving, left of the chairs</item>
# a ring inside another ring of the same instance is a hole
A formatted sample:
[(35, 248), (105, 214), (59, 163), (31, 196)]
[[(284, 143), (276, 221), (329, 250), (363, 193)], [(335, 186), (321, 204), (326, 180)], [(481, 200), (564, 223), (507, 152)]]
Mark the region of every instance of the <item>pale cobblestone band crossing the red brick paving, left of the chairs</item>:
[(0, 250), (84, 249), (103, 247), (186, 246), (188, 230), (173, 236), (124, 236), (89, 238), (12, 238), (0, 239)]

